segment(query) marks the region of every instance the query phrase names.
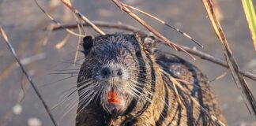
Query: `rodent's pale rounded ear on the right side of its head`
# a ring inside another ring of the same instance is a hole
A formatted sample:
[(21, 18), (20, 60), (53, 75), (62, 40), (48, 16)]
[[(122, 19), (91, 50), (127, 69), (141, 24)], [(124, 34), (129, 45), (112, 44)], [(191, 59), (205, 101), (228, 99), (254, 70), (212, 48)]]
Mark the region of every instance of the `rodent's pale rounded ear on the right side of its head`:
[(149, 54), (155, 54), (157, 49), (157, 39), (153, 36), (145, 36), (142, 39), (144, 50), (149, 52)]

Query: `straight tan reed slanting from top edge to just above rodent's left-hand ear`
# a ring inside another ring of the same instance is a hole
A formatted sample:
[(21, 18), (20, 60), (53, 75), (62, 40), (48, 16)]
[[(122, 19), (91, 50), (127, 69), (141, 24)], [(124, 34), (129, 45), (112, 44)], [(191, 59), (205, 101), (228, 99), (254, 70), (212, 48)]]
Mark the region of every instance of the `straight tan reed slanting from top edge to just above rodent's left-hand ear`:
[(66, 2), (66, 0), (62, 0), (62, 3), (68, 7), (70, 10), (73, 11), (73, 13), (75, 13), (77, 15), (77, 17), (81, 18), (81, 20), (84, 20), (85, 23), (88, 23), (91, 25), (91, 27), (97, 31), (100, 35), (106, 35), (106, 33), (102, 30), (100, 30), (100, 28), (98, 28), (95, 24), (93, 24), (90, 20), (88, 20), (87, 17), (85, 17), (84, 15), (82, 15), (77, 9), (73, 8), (73, 6), (69, 3)]

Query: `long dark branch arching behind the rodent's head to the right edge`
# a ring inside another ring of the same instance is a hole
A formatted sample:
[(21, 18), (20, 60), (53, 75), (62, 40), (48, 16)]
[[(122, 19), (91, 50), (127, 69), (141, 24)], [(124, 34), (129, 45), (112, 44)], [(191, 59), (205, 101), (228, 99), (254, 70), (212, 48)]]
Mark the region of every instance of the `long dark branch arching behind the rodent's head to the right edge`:
[[(93, 24), (96, 24), (96, 26), (98, 27), (104, 27), (104, 28), (117, 28), (117, 29), (122, 29), (122, 30), (126, 30), (126, 31), (134, 31), (134, 32), (140, 32), (140, 34), (143, 35), (147, 35), (148, 33), (146, 31), (140, 31), (138, 28), (135, 28), (133, 26), (130, 25), (126, 25), (126, 24), (117, 24), (117, 23), (111, 23), (111, 22), (105, 22), (105, 21), (92, 21)], [(88, 24), (83, 24), (85, 27), (88, 27)], [(63, 25), (65, 28), (77, 28), (77, 24), (67, 24), (67, 25)], [(53, 26), (53, 31), (57, 31), (57, 30), (61, 30), (62, 27), (56, 25)], [(186, 50), (187, 52), (189, 52), (190, 54), (193, 54), (195, 56), (201, 57), (201, 59), (206, 60), (206, 61), (211, 61), (213, 63), (215, 63), (216, 65), (220, 65), (223, 66), (224, 68), (228, 69), (228, 65), (227, 62), (224, 60), (221, 60), (220, 58), (217, 57), (213, 57), (210, 54), (206, 54), (205, 52), (202, 52), (201, 50), (193, 50), (188, 46), (182, 46), (184, 50)], [(239, 73), (243, 74), (243, 76), (246, 76), (248, 78), (250, 78), (251, 80), (255, 80), (256, 81), (256, 75), (254, 73), (251, 72), (243, 72), (241, 70), (239, 70)]]

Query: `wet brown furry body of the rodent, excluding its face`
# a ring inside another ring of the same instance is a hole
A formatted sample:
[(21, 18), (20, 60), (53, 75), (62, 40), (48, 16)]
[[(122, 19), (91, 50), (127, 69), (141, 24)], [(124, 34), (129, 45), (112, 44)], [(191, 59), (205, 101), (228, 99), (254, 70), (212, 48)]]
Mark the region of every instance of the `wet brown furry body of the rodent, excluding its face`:
[[(104, 112), (99, 107), (100, 105), (92, 102), (86, 108), (77, 110), (77, 126), (215, 125), (213, 120), (210, 120), (204, 111), (192, 102), (190, 96), (194, 97), (210, 114), (225, 123), (219, 102), (209, 83), (207, 83), (208, 80), (205, 75), (194, 65), (175, 55), (164, 54), (161, 51), (150, 54), (141, 41), (143, 41), (141, 37), (138, 37), (137, 42), (140, 43), (141, 60), (145, 63), (145, 68), (151, 68), (146, 69), (146, 80), (152, 83), (145, 84), (144, 90), (153, 91), (152, 102), (146, 101), (141, 96), (139, 100), (129, 105), (126, 113), (118, 117), (112, 117)], [(81, 69), (83, 67), (86, 66), (82, 65)], [(165, 75), (162, 71), (168, 73), (168, 75)], [(183, 80), (181, 85), (185, 91), (177, 87), (182, 101), (181, 105), (168, 76)], [(80, 106), (83, 106), (82, 103)]]

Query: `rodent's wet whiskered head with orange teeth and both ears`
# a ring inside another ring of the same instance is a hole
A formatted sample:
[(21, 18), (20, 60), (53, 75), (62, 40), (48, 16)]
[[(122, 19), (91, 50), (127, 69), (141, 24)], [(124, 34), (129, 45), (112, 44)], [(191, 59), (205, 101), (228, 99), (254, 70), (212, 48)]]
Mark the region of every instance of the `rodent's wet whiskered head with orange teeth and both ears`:
[(141, 98), (150, 100), (155, 75), (151, 54), (155, 39), (137, 35), (86, 36), (85, 61), (77, 79), (81, 108), (98, 102), (111, 115), (121, 115)]

